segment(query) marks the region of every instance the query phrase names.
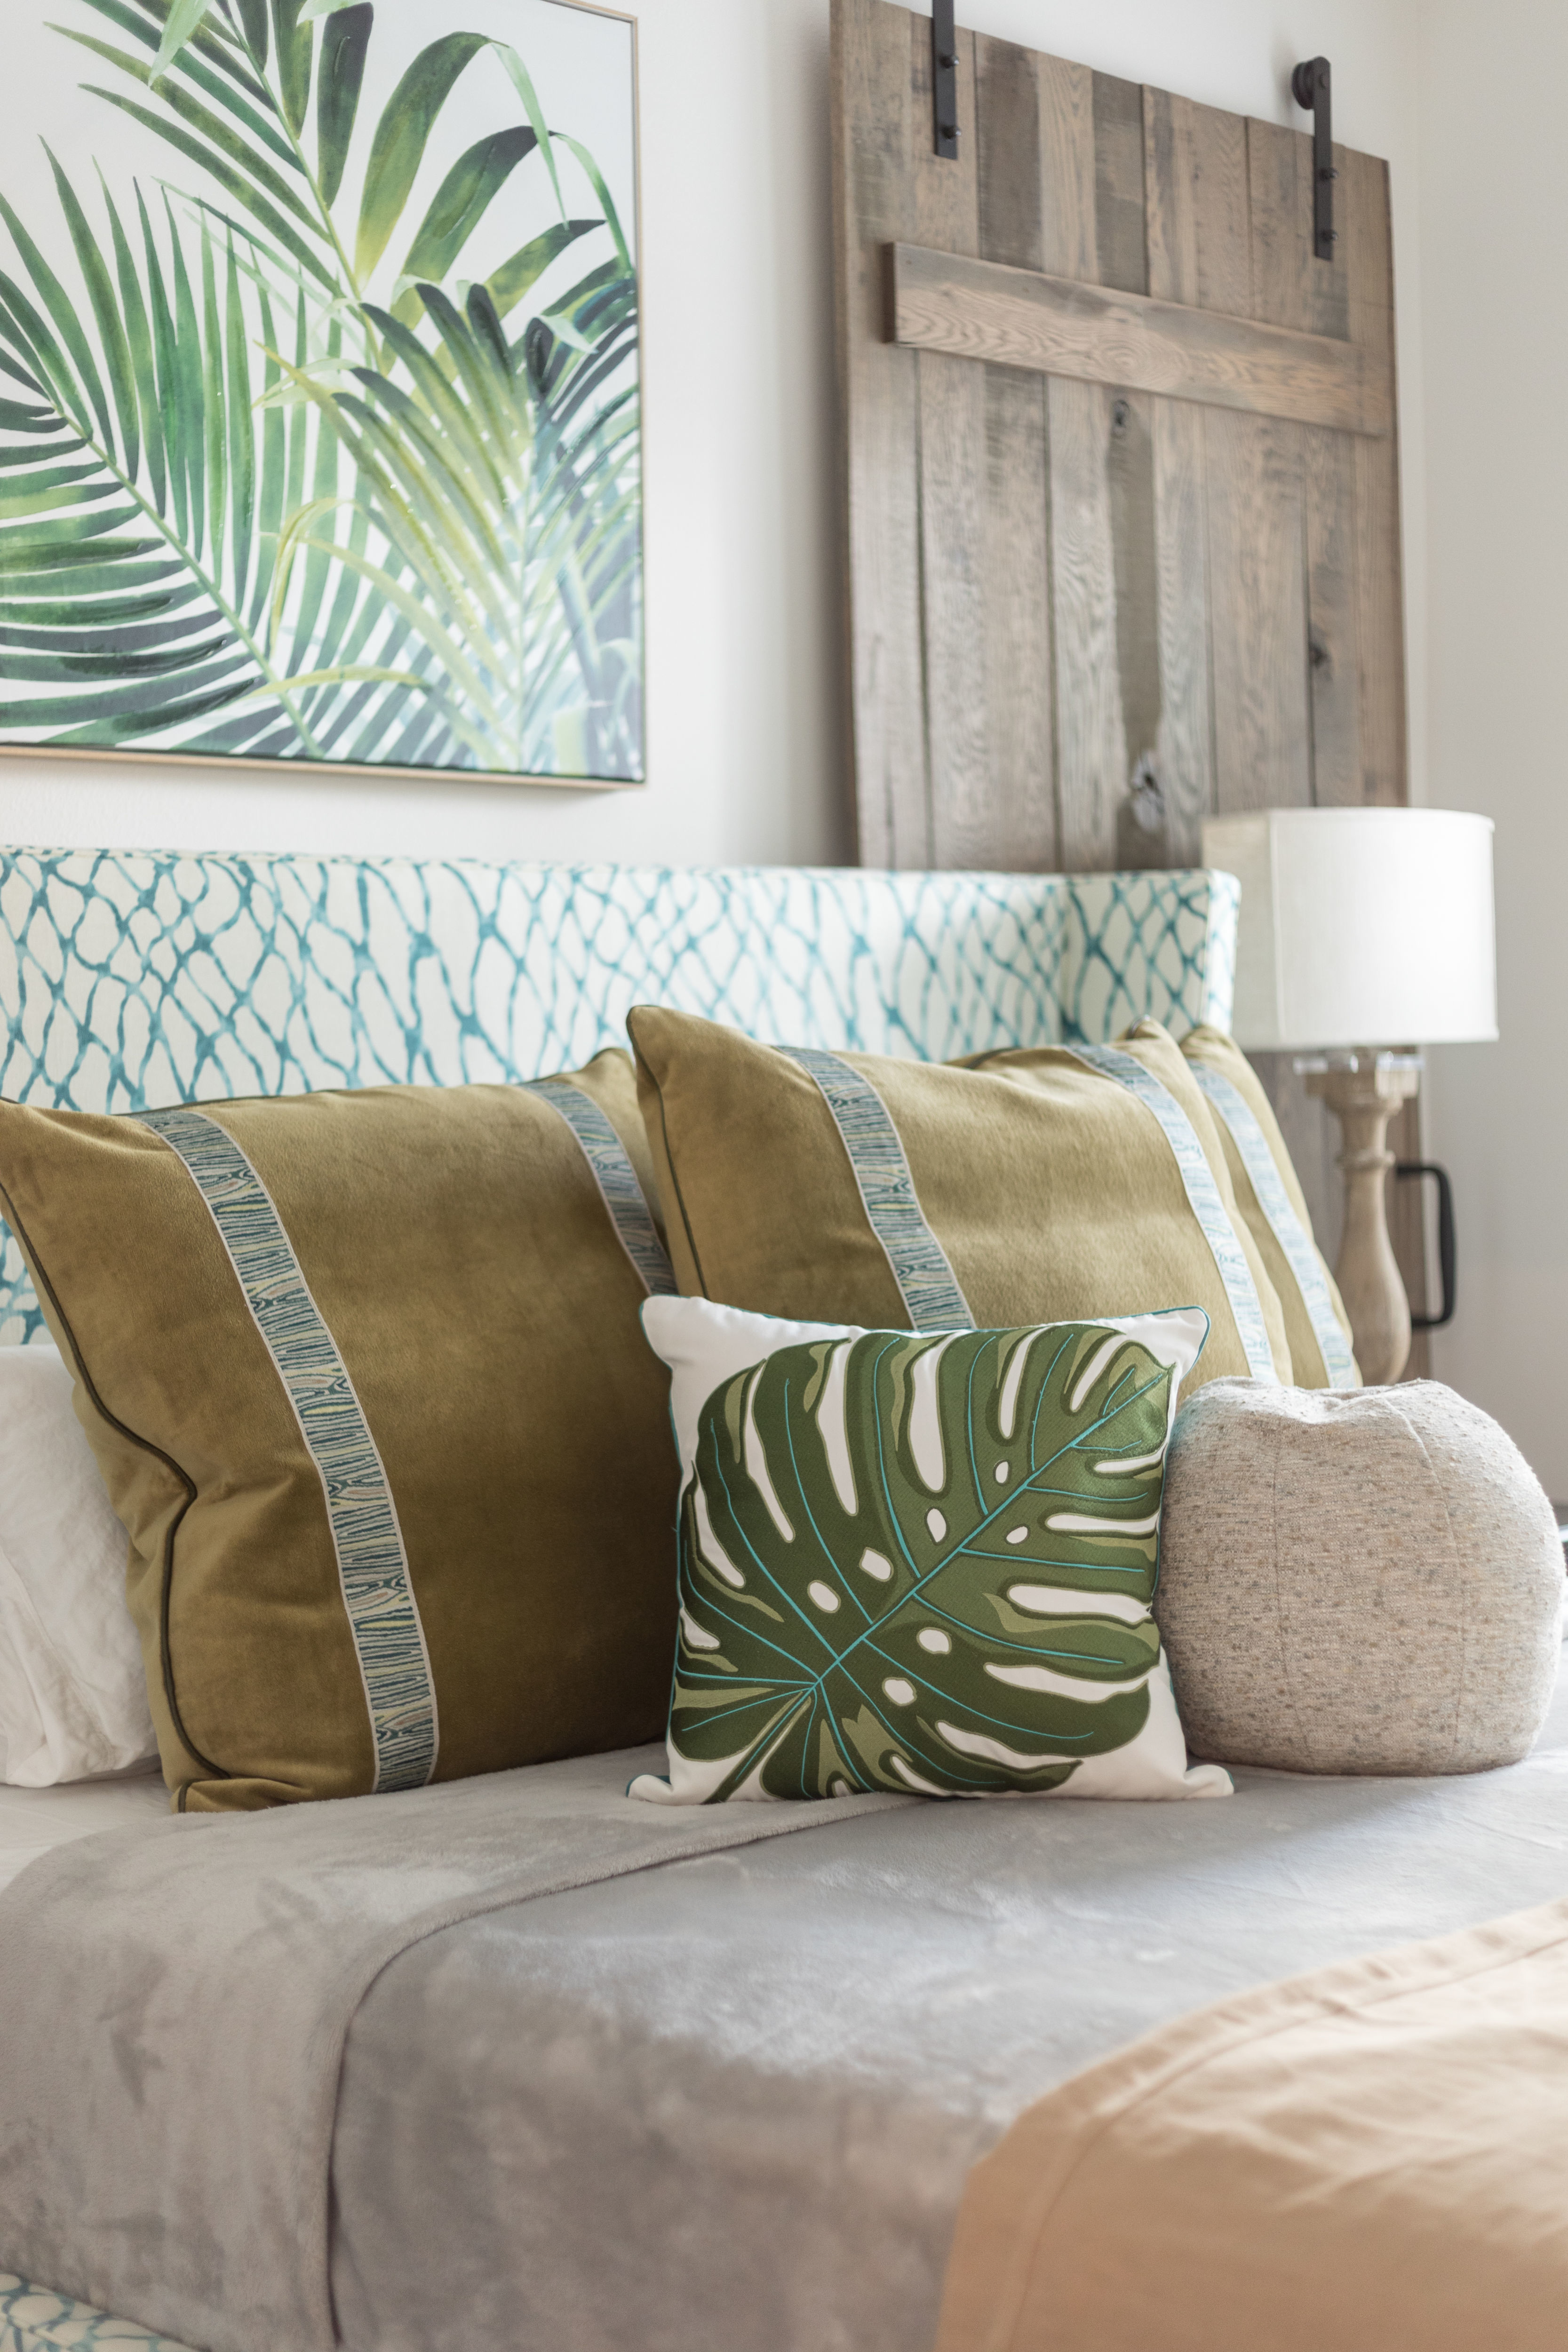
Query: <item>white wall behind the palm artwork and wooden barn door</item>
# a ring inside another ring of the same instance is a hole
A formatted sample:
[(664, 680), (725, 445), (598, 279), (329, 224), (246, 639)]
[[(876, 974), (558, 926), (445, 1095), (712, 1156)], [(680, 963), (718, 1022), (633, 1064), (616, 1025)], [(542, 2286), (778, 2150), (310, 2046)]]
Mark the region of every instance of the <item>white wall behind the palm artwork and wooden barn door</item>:
[[(632, 0), (635, 5), (635, 0)], [(1415, 0), (959, 0), (983, 31), (1394, 165), (1406, 480), (1420, 477)], [(649, 774), (637, 793), (0, 760), (0, 840), (538, 858), (851, 856), (839, 729), (827, 0), (642, 0)], [(1408, 496), (1420, 656), (1420, 501)], [(1420, 659), (1415, 661), (1420, 687)], [(1420, 717), (1420, 691), (1413, 701)]]

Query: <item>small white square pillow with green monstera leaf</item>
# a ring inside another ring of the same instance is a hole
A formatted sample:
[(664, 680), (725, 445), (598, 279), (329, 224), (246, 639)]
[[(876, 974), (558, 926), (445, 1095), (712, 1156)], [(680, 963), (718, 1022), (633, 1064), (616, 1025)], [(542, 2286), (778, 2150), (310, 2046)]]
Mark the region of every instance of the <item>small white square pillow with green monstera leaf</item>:
[(1220, 1797), (1150, 1604), (1201, 1310), (860, 1331), (651, 1298), (682, 1456), (670, 1778), (635, 1797)]

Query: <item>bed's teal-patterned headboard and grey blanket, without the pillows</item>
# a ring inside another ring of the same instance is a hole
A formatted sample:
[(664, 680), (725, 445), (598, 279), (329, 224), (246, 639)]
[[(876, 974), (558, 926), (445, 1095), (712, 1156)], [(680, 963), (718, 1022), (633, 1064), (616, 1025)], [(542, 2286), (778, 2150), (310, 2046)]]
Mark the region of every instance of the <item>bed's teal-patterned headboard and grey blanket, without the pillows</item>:
[[(1225, 1025), (1234, 913), (1192, 873), (16, 851), (5, 1091), (527, 1080), (639, 997), (922, 1058)], [(14, 1254), (0, 1303), (38, 1331)], [(1509, 1771), (1239, 1771), (1112, 1835), (884, 1797), (672, 1820), (623, 1795), (656, 1764), (249, 1818), (0, 1792), (2, 2352), (917, 2352), (1039, 2100), (1208, 2004), (1552, 1905), (1568, 1856), (1568, 1691)]]

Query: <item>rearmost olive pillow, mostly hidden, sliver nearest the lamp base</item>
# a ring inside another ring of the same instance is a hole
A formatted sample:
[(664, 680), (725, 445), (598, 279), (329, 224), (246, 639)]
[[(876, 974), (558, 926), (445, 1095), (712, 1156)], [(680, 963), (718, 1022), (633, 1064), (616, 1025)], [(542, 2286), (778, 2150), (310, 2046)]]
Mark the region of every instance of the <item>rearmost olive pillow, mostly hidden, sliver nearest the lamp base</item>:
[(1182, 1058), (1225, 1143), (1237, 1209), (1269, 1270), (1291, 1334), (1298, 1388), (1361, 1388), (1349, 1315), (1312, 1240), (1307, 1195), (1279, 1131), (1274, 1105), (1234, 1037), (1197, 1028)]

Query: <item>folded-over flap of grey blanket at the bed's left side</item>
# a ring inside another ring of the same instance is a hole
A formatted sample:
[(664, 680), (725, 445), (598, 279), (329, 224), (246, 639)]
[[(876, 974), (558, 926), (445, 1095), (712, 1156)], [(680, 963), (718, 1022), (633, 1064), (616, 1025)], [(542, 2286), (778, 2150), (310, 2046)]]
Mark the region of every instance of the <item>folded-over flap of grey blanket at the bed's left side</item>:
[(536, 1896), (917, 1802), (670, 1816), (623, 1795), (661, 1757), (45, 1853), (0, 1896), (5, 2267), (205, 2352), (334, 2352), (343, 2039), (388, 1962)]

